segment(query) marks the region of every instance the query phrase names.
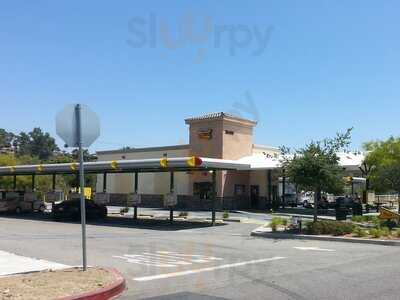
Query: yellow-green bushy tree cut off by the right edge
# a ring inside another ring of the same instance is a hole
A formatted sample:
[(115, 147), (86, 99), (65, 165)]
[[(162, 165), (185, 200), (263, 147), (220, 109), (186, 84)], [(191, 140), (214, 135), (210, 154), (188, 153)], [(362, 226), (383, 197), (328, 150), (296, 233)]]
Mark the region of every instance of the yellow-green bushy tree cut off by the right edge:
[(374, 189), (400, 194), (400, 138), (368, 142), (364, 148), (368, 151), (365, 161), (371, 166), (369, 180)]

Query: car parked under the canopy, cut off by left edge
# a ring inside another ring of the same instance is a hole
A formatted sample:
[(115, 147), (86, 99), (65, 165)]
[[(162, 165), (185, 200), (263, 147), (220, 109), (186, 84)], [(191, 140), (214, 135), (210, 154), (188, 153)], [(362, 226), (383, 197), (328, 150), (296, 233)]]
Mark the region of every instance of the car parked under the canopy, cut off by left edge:
[(0, 212), (23, 213), (44, 212), (45, 203), (37, 199), (35, 193), (15, 191), (0, 191)]

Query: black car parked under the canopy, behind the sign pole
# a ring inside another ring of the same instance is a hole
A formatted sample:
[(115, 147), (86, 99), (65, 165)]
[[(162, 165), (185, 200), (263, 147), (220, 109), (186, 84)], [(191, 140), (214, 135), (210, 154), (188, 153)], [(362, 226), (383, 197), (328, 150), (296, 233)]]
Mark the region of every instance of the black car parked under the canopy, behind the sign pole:
[[(105, 205), (96, 204), (92, 200), (85, 200), (85, 204), (87, 219), (101, 219), (107, 216), (107, 207)], [(52, 208), (52, 213), (54, 220), (80, 220), (80, 200), (73, 199), (54, 204)]]

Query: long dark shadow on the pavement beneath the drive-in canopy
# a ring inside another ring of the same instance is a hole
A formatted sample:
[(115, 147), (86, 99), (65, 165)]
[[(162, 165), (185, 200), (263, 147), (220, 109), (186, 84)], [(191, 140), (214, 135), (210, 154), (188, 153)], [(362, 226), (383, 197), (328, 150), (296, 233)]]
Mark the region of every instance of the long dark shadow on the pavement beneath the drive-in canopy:
[[(42, 221), (42, 222), (57, 222), (57, 223), (69, 223), (79, 224), (79, 221), (54, 221), (51, 214), (40, 214), (40, 213), (25, 213), (20, 215), (11, 214), (0, 214), (1, 218), (8, 219), (20, 219), (20, 220), (31, 220), (31, 221)], [(175, 231), (185, 229), (195, 229), (212, 227), (210, 221), (191, 221), (191, 220), (174, 220), (172, 224), (169, 220), (160, 219), (138, 219), (133, 220), (128, 217), (117, 217), (108, 216), (103, 220), (87, 220), (88, 225), (94, 226), (110, 226), (110, 227), (124, 227), (124, 228), (138, 228), (138, 229), (150, 229), (150, 230), (162, 230), (162, 231)], [(224, 223), (216, 223), (215, 226), (223, 226)]]

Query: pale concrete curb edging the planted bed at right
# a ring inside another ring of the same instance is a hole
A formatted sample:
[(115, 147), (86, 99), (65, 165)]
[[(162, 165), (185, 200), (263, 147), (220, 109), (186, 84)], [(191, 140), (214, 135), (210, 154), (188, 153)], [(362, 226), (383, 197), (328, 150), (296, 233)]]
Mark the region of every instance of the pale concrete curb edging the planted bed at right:
[(305, 234), (290, 234), (290, 233), (279, 233), (279, 232), (257, 232), (257, 229), (251, 232), (251, 236), (269, 238), (269, 239), (314, 240), (314, 241), (359, 243), (359, 244), (400, 247), (400, 241), (393, 241), (393, 240), (367, 240), (362, 238), (348, 238), (340, 236), (305, 235)]

